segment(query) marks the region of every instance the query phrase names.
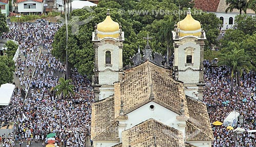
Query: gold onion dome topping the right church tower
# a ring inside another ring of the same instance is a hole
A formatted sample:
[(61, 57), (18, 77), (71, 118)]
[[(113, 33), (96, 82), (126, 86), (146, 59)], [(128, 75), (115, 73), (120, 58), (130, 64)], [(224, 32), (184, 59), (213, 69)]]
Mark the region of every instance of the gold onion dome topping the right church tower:
[(201, 24), (191, 16), (190, 8), (188, 8), (187, 16), (177, 23), (177, 28), (180, 37), (201, 35)]

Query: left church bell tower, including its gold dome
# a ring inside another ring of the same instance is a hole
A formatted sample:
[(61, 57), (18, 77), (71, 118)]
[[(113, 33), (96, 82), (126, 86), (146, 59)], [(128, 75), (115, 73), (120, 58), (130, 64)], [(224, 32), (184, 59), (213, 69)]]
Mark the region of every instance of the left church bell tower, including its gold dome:
[(104, 21), (95, 25), (92, 33), (95, 51), (93, 87), (95, 101), (114, 94), (114, 82), (122, 79), (122, 49), (124, 33), (122, 26), (110, 17), (110, 10)]

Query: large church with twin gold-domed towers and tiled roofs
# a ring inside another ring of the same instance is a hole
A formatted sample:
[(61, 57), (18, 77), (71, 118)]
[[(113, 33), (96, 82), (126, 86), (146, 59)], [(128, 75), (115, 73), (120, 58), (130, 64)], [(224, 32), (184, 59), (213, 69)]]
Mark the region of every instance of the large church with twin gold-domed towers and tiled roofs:
[[(124, 32), (110, 12), (95, 25), (91, 139), (94, 147), (211, 146), (214, 138), (202, 102), (205, 32), (187, 16), (175, 25), (174, 67), (147, 45), (124, 70)], [(153, 58), (154, 57), (154, 58)]]

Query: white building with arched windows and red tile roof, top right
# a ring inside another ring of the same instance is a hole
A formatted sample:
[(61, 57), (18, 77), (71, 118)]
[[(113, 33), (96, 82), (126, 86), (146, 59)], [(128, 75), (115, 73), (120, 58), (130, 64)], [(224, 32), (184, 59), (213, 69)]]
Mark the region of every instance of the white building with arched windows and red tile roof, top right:
[[(215, 13), (216, 16), (223, 21), (221, 30), (233, 28), (234, 18), (239, 14), (239, 10), (234, 9), (232, 12), (225, 13), (228, 7), (225, 0), (194, 0), (194, 3), (197, 9)], [(246, 13), (252, 16), (255, 15), (255, 12), (251, 9), (248, 9)]]

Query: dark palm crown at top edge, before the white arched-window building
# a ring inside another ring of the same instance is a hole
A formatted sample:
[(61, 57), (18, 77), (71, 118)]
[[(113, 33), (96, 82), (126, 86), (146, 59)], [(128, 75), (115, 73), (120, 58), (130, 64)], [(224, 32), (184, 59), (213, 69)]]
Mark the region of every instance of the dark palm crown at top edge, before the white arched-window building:
[(242, 14), (242, 11), (246, 13), (246, 10), (248, 8), (248, 2), (247, 0), (226, 0), (226, 5), (228, 5), (225, 12), (227, 13), (232, 12), (234, 9), (238, 9), (239, 13)]

